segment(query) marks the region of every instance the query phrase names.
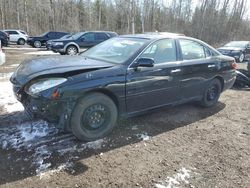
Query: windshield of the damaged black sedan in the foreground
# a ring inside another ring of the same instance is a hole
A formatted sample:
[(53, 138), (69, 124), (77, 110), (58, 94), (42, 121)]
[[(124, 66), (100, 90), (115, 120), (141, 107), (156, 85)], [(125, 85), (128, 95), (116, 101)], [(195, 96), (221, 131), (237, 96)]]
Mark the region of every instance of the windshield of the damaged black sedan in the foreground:
[(112, 38), (93, 48), (90, 48), (81, 55), (101, 61), (121, 64), (134, 55), (147, 39), (139, 38)]

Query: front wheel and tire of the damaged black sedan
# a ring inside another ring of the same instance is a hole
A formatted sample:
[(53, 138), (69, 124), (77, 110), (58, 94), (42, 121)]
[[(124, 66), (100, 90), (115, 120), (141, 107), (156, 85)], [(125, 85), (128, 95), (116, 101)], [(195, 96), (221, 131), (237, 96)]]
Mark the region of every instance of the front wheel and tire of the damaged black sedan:
[(76, 104), (71, 116), (71, 129), (79, 140), (97, 140), (112, 131), (117, 117), (117, 107), (109, 97), (92, 93)]

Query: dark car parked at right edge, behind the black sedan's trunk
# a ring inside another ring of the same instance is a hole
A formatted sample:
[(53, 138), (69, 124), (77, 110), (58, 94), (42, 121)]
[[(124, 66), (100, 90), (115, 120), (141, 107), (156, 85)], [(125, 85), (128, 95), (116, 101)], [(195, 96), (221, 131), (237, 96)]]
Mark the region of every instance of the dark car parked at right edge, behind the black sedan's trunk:
[(233, 41), (223, 47), (218, 48), (223, 55), (231, 56), (236, 61), (242, 63), (244, 60), (250, 60), (250, 41)]

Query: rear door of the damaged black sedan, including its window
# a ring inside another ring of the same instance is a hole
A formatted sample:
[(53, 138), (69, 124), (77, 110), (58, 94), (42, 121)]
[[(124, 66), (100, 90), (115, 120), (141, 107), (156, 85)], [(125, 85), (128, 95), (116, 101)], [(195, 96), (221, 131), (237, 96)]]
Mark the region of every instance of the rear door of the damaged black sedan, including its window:
[(182, 55), (180, 80), (182, 99), (198, 99), (206, 83), (216, 75), (220, 62), (213, 57), (209, 48), (191, 39), (179, 39)]

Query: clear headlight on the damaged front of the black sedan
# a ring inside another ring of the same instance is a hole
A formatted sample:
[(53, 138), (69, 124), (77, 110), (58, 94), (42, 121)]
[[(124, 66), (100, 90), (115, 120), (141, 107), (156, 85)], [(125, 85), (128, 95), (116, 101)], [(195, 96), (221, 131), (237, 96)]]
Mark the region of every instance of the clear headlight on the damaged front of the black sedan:
[(28, 88), (28, 93), (37, 94), (41, 91), (58, 86), (66, 81), (67, 81), (66, 78), (48, 78), (48, 79), (39, 80)]

